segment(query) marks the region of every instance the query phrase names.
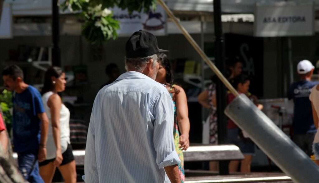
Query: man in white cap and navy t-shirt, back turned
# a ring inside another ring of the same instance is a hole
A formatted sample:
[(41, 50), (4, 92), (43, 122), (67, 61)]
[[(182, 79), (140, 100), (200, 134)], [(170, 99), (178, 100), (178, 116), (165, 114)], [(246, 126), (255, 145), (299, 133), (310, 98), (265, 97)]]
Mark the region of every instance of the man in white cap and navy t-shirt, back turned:
[(302, 60), (297, 65), (300, 81), (290, 85), (288, 98), (293, 99), (293, 141), (306, 152), (312, 154), (312, 142), (316, 128), (312, 118), (312, 108), (309, 100), (311, 89), (319, 82), (311, 81), (315, 67), (308, 60)]

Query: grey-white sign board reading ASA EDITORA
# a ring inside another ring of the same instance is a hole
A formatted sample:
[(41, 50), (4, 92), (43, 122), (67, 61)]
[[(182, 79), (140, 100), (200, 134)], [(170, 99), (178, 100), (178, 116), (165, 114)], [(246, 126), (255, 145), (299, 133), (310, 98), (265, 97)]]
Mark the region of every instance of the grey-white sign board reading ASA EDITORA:
[(256, 37), (314, 35), (314, 4), (256, 4), (254, 34)]

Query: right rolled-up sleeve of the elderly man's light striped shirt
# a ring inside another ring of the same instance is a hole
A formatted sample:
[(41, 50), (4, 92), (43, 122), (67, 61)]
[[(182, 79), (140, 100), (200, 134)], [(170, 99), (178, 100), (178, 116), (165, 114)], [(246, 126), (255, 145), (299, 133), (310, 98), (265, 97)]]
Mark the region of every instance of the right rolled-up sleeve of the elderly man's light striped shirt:
[(154, 136), (156, 163), (159, 168), (180, 162), (174, 144), (174, 105), (168, 92), (162, 92), (154, 104)]

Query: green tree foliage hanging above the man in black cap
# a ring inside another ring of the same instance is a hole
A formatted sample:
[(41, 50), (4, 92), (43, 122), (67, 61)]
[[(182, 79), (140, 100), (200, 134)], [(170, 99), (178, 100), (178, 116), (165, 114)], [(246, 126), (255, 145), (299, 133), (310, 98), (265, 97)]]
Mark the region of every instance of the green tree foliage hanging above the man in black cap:
[(119, 7), (133, 11), (148, 12), (156, 8), (156, 0), (66, 0), (62, 9), (80, 12), (85, 20), (82, 28), (83, 36), (92, 44), (100, 44), (117, 38), (119, 22), (113, 18), (110, 8)]

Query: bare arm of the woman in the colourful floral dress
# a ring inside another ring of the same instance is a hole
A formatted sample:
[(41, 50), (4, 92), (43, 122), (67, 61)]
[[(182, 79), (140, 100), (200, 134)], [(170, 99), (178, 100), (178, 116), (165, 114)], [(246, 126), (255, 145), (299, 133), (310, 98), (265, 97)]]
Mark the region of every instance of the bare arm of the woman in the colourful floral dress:
[(182, 150), (187, 150), (189, 147), (189, 118), (188, 118), (188, 106), (185, 91), (180, 86), (175, 86), (175, 101), (176, 101), (176, 112), (180, 135), (180, 147)]

